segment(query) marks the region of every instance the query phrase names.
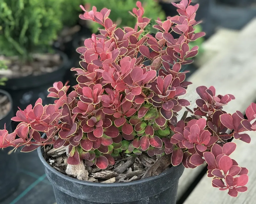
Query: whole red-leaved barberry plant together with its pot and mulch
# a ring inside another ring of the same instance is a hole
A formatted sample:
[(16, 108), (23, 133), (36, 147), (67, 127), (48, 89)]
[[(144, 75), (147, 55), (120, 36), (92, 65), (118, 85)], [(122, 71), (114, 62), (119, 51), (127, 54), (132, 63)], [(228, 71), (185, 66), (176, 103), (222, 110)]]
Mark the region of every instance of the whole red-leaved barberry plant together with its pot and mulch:
[(69, 86), (55, 83), (49, 89), (54, 104), (43, 106), (39, 98), (12, 118), (20, 122), (18, 139), (0, 135), (1, 148), (38, 150), (57, 203), (175, 203), (184, 167), (204, 162), (214, 187), (234, 197), (247, 190), (248, 170), (229, 157), (236, 144), (227, 140), (250, 142), (242, 132), (256, 129), (256, 104), (247, 108), (248, 119), (239, 111), (231, 115), (222, 108), (233, 95), (200, 86), (197, 107), (187, 108), (192, 115), (178, 119), (190, 105), (180, 96), (191, 84), (180, 70), (198, 52), (188, 44), (204, 35), (194, 34), (198, 5), (190, 3), (174, 3), (179, 16), (157, 20), (156, 37), (144, 31), (150, 19), (140, 2), (134, 29), (116, 28), (109, 9), (84, 9), (82, 18), (105, 29), (77, 49), (83, 59), (72, 69), (78, 84), (67, 94)]

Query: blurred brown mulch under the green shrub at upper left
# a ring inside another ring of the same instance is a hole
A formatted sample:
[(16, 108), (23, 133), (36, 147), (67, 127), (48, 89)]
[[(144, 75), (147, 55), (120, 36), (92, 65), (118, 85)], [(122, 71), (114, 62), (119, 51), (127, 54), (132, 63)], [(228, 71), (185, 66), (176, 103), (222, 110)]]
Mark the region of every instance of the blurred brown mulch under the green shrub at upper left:
[(1, 71), (0, 75), (7, 78), (26, 77), (28, 75), (41, 75), (50, 73), (59, 68), (62, 63), (59, 54), (33, 54), (30, 62), (21, 62), (17, 56), (5, 57), (0, 56), (0, 60), (8, 67), (7, 70)]

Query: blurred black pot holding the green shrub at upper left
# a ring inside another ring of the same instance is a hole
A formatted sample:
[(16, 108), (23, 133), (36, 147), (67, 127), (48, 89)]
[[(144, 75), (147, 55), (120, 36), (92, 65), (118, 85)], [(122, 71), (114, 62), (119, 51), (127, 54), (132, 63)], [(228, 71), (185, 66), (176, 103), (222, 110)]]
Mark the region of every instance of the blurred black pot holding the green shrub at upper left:
[(42, 98), (43, 105), (51, 104), (54, 98), (47, 98), (48, 88), (54, 82), (63, 81), (67, 68), (70, 67), (70, 61), (66, 54), (57, 51), (62, 58), (62, 64), (59, 69), (38, 76), (29, 75), (21, 78), (9, 79), (1, 89), (6, 90), (13, 98), (13, 110), (16, 112), (17, 107), (24, 110), (29, 104), (35, 105), (38, 98)]

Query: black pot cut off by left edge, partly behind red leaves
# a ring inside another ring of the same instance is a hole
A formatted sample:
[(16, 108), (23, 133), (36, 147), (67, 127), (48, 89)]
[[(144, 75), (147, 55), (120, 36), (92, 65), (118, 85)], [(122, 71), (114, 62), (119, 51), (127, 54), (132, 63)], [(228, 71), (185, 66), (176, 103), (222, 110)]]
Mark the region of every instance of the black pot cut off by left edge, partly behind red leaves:
[[(8, 96), (8, 99), (12, 105), (12, 98), (6, 91), (0, 90), (0, 94)], [(6, 130), (8, 130), (9, 133), (12, 133), (12, 117), (13, 110), (11, 109), (6, 116), (0, 120), (0, 130), (3, 130), (4, 125), (6, 125)], [(8, 152), (12, 149), (13, 148), (11, 147), (0, 149), (0, 201), (10, 196), (19, 185), (17, 154), (13, 152), (12, 154), (8, 155)]]

